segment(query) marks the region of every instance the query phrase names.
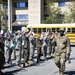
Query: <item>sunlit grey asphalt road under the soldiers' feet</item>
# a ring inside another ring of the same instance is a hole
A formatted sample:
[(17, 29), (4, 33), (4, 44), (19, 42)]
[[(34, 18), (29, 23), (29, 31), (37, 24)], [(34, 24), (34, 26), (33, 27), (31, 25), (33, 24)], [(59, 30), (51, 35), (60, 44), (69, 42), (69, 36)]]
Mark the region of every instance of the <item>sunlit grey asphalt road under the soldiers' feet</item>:
[[(75, 75), (75, 47), (71, 47), (71, 63), (66, 62), (66, 71), (64, 75)], [(43, 58), (43, 57), (42, 57)], [(41, 61), (39, 64), (35, 62), (29, 67), (17, 69), (15, 66), (7, 67), (3, 69), (5, 75), (59, 75), (58, 68), (54, 63), (54, 58), (50, 58), (46, 61)], [(22, 66), (22, 64), (21, 64)]]

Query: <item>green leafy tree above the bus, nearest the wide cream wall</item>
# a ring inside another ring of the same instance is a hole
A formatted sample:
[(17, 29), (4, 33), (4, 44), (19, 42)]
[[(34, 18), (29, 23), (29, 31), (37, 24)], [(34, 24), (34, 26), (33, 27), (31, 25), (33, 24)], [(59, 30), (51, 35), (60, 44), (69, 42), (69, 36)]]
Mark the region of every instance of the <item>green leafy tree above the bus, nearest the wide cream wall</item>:
[(61, 17), (61, 10), (58, 7), (55, 7), (55, 0), (45, 0), (47, 15), (46, 20), (43, 20), (43, 23), (52, 24), (52, 23), (62, 23), (64, 17)]

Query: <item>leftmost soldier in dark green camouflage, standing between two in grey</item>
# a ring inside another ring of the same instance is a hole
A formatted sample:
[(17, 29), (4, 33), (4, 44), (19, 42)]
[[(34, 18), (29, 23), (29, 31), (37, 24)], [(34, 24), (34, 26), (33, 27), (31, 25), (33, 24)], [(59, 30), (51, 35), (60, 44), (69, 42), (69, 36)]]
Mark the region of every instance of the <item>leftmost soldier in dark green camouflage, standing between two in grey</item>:
[(28, 33), (26, 32), (25, 36), (24, 36), (24, 51), (23, 51), (24, 63), (23, 63), (23, 67), (29, 65), (29, 63), (28, 63), (29, 50), (30, 50), (29, 36), (28, 36)]

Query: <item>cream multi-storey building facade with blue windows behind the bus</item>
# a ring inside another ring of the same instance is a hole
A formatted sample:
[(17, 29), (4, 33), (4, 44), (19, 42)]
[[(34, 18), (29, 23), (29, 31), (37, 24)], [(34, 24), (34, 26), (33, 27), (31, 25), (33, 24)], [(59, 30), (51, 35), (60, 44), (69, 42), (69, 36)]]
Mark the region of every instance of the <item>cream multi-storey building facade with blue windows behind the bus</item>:
[[(75, 0), (57, 0), (55, 6), (68, 11), (66, 4)], [(28, 24), (41, 24), (48, 16), (45, 0), (5, 0), (4, 9), (8, 9), (8, 28), (11, 31), (21, 29)], [(64, 13), (63, 13), (64, 14)]]

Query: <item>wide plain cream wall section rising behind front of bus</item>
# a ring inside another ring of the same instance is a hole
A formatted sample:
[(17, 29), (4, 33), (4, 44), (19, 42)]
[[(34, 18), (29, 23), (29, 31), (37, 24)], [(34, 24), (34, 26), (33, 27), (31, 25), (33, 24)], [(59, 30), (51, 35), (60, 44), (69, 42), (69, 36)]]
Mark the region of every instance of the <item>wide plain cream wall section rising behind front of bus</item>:
[(41, 0), (28, 0), (29, 24), (41, 23)]

